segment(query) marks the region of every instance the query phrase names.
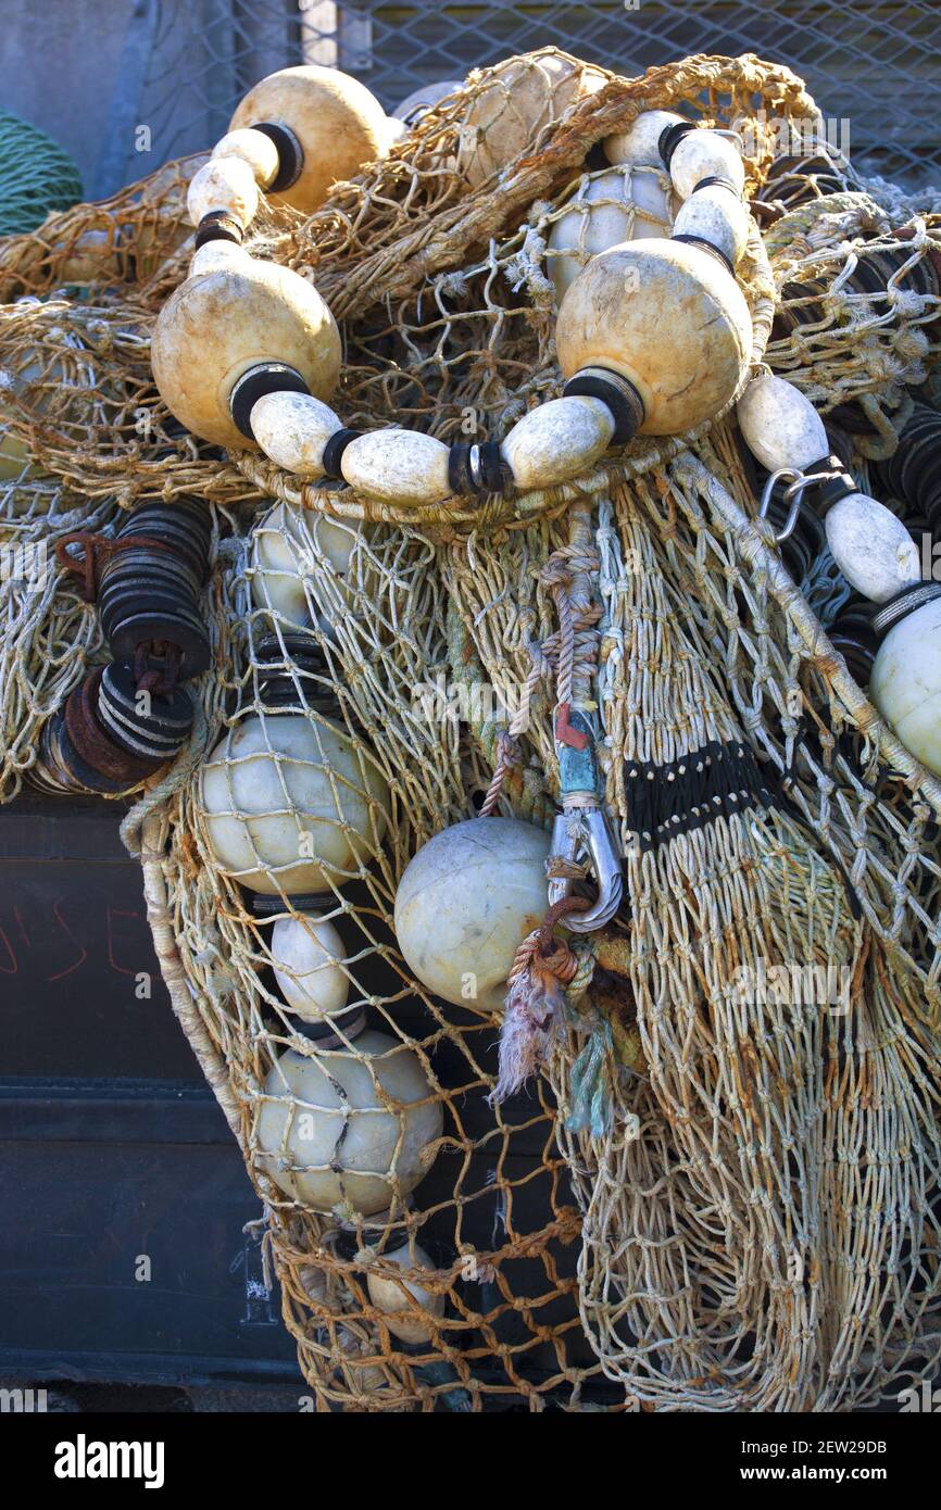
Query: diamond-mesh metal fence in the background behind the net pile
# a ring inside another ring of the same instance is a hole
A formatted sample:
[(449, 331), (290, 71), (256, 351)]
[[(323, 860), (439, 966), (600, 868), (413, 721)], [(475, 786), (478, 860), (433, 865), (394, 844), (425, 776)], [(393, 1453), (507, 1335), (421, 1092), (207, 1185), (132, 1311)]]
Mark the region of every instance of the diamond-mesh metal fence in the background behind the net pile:
[[(393, 109), (423, 83), (461, 79), (468, 68), (547, 44), (625, 74), (687, 53), (755, 51), (785, 62), (807, 80), (844, 146), (849, 130), (856, 166), (927, 187), (941, 180), (936, 30), (936, 0), (137, 0), (97, 187), (106, 192), (208, 145), (240, 95), (273, 68), (343, 68)], [(142, 137), (139, 125), (148, 128)]]

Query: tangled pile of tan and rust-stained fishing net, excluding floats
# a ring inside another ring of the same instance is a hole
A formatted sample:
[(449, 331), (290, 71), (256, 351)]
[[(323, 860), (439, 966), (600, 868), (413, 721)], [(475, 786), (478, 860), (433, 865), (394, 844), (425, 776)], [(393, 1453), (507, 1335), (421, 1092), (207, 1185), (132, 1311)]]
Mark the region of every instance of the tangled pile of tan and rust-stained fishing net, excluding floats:
[[(255, 255), (310, 270), (340, 323), (344, 423), (500, 438), (557, 394), (550, 228), (597, 142), (678, 107), (751, 128), (755, 358), (844, 421), (865, 486), (933, 381), (941, 299), (912, 273), (941, 252), (941, 204), (843, 163), (837, 192), (825, 181), (788, 208), (787, 184), (769, 181), (770, 122), (819, 116), (793, 74), (754, 57), (610, 77), (498, 183), (470, 189), (461, 119), (488, 77), (310, 219), (269, 210), (252, 228)], [(124, 837), (174, 1010), (264, 1200), (317, 1407), (849, 1410), (923, 1377), (941, 1353), (941, 787), (828, 642), (834, 581), (802, 593), (785, 572), (734, 415), (637, 441), (554, 491), (400, 512), (202, 447), (159, 402), (148, 361), (192, 252), (192, 169), (0, 243), (3, 541), (48, 554), (42, 590), (2, 584), (0, 788), (11, 799), (29, 779), (44, 722), (106, 655), (56, 542), (113, 532), (147, 498), (202, 498), (213, 666), (189, 746)], [(896, 272), (867, 291), (853, 269), (882, 249)], [(270, 500), (296, 510), (314, 622), (328, 606), (335, 625), (317, 636), (322, 675), (293, 667), (281, 639), (298, 707), (314, 729), (340, 720), (390, 793), (328, 909), (349, 1000), (414, 1049), (443, 1110), (427, 1176), (381, 1229), (343, 1199), (316, 1216), (270, 1178), (266, 1074), (285, 1046), (317, 1049), (292, 1030), (269, 923), (214, 867), (196, 794), (224, 726), (264, 708), (257, 646), (284, 627), (252, 593), (248, 538)], [(325, 528), (350, 536), (343, 575)], [(557, 587), (575, 598), (585, 572), (624, 904), (585, 936), (548, 1072), (491, 1105), (498, 1018), (424, 992), (396, 950), (393, 903), (417, 847), (474, 814), (506, 753), (509, 714), (480, 689), (529, 689), (498, 811), (551, 824)], [(687, 830), (674, 776), (717, 743), (739, 749), (755, 806)], [(793, 962), (837, 971), (838, 1001), (743, 1003), (743, 971)], [(433, 1259), (415, 1284), (438, 1297), (430, 1339), (411, 1347), (367, 1284), (408, 1280), (385, 1255), (409, 1235)]]

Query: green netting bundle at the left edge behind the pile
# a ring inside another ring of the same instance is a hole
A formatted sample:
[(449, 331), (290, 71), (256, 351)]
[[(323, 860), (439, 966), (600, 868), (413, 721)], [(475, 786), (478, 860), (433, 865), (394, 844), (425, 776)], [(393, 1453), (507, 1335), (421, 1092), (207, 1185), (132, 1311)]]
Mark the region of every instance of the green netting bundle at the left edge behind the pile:
[(51, 136), (0, 110), (0, 236), (23, 236), (82, 199), (74, 162)]

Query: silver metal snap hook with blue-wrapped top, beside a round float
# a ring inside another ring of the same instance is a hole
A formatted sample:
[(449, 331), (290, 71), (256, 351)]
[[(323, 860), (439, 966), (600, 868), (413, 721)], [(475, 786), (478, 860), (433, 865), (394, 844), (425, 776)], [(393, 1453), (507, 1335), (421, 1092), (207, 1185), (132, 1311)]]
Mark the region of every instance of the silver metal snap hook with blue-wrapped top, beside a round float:
[[(572, 933), (594, 933), (610, 923), (621, 906), (624, 877), (607, 818), (598, 800), (595, 731), (588, 714), (569, 704), (559, 704), (554, 719), (556, 755), (563, 812), (553, 823), (551, 859), (577, 871), (589, 864), (598, 885), (598, 898), (588, 912), (571, 912), (565, 927)], [(548, 903), (571, 895), (575, 876), (550, 876)]]

